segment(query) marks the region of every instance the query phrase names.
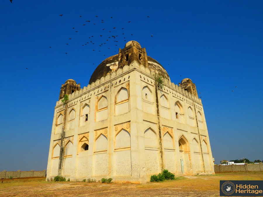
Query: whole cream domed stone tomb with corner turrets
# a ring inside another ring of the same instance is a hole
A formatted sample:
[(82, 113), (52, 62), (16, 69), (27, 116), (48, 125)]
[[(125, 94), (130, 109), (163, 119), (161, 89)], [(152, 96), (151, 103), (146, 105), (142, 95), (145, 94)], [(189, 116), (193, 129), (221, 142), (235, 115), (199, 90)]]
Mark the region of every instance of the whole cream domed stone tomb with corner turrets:
[(163, 169), (214, 174), (203, 105), (191, 79), (171, 83), (162, 65), (129, 41), (98, 65), (87, 87), (62, 84), (47, 178), (145, 183)]

